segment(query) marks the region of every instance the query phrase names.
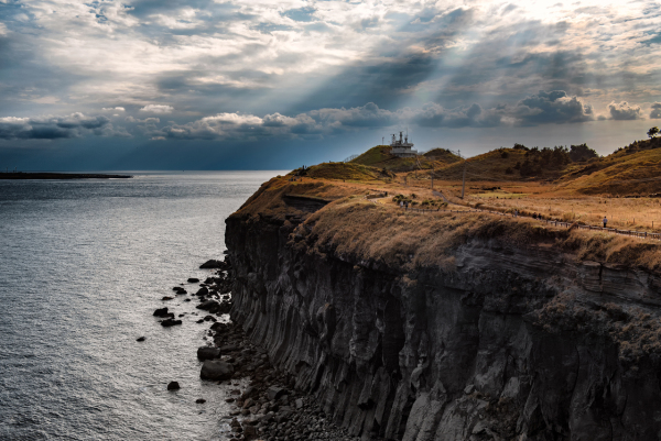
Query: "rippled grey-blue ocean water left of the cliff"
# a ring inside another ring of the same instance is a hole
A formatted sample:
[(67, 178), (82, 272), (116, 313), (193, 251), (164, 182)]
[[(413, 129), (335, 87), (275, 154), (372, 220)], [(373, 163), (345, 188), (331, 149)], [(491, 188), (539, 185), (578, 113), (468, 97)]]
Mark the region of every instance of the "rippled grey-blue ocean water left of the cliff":
[(277, 174), (0, 180), (0, 440), (226, 439), (228, 387), (196, 359), (209, 323), (161, 298), (207, 276), (226, 217)]

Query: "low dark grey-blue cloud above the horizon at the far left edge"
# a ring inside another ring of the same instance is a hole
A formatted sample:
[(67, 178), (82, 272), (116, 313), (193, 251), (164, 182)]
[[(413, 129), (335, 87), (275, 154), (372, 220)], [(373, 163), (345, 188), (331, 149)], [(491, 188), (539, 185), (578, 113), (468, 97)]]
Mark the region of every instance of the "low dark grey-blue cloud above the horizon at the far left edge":
[(67, 117), (0, 118), (2, 140), (57, 140), (97, 136), (130, 136), (123, 128), (113, 128), (106, 117), (86, 117), (72, 113)]

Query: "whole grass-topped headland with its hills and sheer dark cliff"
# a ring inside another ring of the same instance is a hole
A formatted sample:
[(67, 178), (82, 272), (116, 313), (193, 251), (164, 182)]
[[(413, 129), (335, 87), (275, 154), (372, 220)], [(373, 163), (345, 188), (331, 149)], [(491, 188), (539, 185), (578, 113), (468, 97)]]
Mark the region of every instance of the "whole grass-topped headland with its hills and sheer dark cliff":
[(587, 211), (654, 213), (661, 150), (484, 179), (513, 174), (511, 156), (537, 173), (543, 153), (525, 152), (474, 159), (485, 172), (464, 198), (457, 161), (354, 159), (264, 183), (226, 221), (232, 321), (349, 437), (654, 439), (661, 242)]

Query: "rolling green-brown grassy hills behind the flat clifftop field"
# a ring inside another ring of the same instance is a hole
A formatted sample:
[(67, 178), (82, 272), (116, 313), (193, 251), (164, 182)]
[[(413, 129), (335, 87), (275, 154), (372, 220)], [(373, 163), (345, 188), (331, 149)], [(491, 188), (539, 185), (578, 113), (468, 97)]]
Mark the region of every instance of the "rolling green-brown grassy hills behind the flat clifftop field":
[[(545, 150), (545, 153), (550, 152)], [(554, 183), (557, 190), (584, 195), (661, 194), (661, 137), (636, 141), (608, 156), (589, 161), (566, 159), (552, 164), (544, 157), (550, 156), (544, 156), (544, 152), (537, 148), (497, 148), (466, 159), (466, 180)], [(433, 168), (435, 178), (445, 180), (460, 180), (464, 173), (464, 161), (444, 148), (402, 158), (391, 155), (389, 145), (377, 145), (348, 164), (367, 167), (342, 172), (343, 176), (353, 176), (346, 177), (353, 180), (368, 177), (383, 179), (388, 176), (387, 172), (412, 172), (419, 168)], [(333, 170), (332, 174), (335, 173)]]

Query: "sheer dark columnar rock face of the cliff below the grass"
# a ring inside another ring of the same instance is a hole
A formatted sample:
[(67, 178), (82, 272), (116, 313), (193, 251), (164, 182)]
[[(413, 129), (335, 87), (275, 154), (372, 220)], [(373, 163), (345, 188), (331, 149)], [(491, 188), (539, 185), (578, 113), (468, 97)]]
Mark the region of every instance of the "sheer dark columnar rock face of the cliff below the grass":
[(227, 220), (231, 318), (351, 434), (661, 438), (658, 275), (496, 240), (404, 269), (299, 214)]

